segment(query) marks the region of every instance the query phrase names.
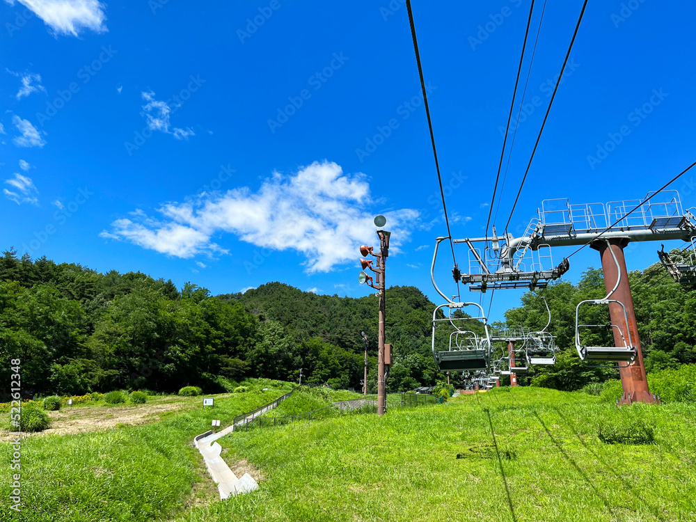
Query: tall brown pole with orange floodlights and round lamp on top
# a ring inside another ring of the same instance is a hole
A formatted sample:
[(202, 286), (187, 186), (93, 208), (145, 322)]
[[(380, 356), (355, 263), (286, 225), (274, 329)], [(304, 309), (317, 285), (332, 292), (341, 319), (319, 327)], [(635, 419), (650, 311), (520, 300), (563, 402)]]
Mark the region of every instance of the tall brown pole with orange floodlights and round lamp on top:
[(379, 347), (379, 358), (377, 363), (377, 415), (383, 416), (386, 411), (386, 393), (384, 388), (384, 320), (385, 320), (385, 309), (386, 309), (386, 285), (384, 284), (384, 271), (386, 258), (389, 255), (389, 238), (391, 232), (388, 230), (383, 230), (379, 227), (383, 227), (386, 224), (386, 219), (384, 216), (377, 216), (374, 218), (374, 225), (377, 226), (377, 237), (379, 237), (379, 253), (374, 253), (371, 246), (362, 245), (360, 247), (360, 253), (363, 255), (373, 255), (377, 258), (377, 268), (372, 268), (372, 261), (361, 259), (361, 266), (363, 270), (369, 268), (372, 270), (377, 277), (376, 284), (372, 284), (372, 277), (365, 274), (362, 271), (359, 274), (358, 280), (361, 283), (366, 283), (370, 285), (375, 290), (379, 290), (379, 329), (378, 329), (378, 347)]

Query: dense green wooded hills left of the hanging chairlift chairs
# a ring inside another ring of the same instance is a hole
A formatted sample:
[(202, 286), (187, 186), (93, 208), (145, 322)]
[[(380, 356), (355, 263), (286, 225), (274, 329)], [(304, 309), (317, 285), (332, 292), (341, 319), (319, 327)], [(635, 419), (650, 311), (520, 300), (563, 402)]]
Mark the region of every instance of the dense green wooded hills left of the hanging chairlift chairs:
[[(389, 386), (434, 383), (429, 356), (433, 304), (413, 287), (388, 290)], [(232, 390), (246, 377), (361, 388), (363, 340), (376, 388), (377, 301), (317, 296), (281, 283), (211, 296), (191, 283), (141, 273), (100, 274), (46, 258), (0, 258), (0, 358), (20, 358), (27, 395), (79, 395), (200, 386)], [(0, 368), (9, 381), (10, 368)]]

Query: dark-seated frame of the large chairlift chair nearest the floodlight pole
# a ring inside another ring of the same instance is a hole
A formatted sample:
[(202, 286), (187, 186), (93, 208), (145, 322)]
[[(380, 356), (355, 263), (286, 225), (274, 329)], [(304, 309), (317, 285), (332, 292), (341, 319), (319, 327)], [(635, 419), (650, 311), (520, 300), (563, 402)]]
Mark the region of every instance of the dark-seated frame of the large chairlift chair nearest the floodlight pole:
[[(433, 311), (432, 352), (438, 370), (441, 372), (487, 370), (491, 356), (491, 338), (482, 306), (478, 303), (455, 303), (449, 299), (448, 301), (447, 304), (437, 306)], [(480, 315), (477, 317), (452, 317), (452, 310), (461, 310), (466, 306), (479, 308)], [(447, 308), (448, 313), (445, 318), (440, 319), (437, 317), (437, 313), (443, 308)], [(448, 349), (438, 350), (435, 347), (435, 329), (438, 323), (445, 321), (454, 326), (454, 331), (450, 334)], [(479, 336), (462, 328), (460, 325), (466, 321), (483, 322), (485, 335)]]

